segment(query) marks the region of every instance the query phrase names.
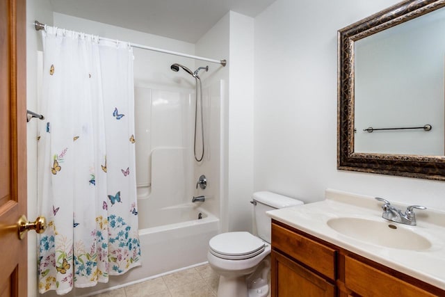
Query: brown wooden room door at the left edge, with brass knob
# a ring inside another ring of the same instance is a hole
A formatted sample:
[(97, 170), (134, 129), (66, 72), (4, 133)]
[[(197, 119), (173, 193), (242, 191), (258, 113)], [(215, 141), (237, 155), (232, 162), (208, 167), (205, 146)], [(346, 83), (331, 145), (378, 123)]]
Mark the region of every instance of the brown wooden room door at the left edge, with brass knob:
[(27, 296), (25, 0), (0, 0), (0, 297)]

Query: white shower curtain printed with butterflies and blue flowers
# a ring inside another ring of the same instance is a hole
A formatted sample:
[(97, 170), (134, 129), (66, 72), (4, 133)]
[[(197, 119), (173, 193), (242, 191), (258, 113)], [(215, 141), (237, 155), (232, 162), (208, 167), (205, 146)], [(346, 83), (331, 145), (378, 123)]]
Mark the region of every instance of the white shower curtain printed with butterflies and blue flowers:
[(42, 41), (39, 291), (66, 294), (140, 265), (133, 53), (52, 27)]

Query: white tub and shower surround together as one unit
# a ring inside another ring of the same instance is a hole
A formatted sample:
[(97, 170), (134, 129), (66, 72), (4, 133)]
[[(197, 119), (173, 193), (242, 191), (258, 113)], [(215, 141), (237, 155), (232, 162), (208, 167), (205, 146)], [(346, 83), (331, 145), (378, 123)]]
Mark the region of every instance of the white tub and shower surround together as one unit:
[[(209, 69), (212, 71), (213, 67)], [(172, 73), (176, 76), (173, 82), (188, 78), (185, 72)], [(220, 230), (222, 83), (216, 81), (203, 88), (206, 153), (199, 164), (193, 159), (193, 88), (193, 84), (191, 88), (136, 86), (139, 233), (147, 265), (136, 269), (131, 280), (206, 261), (207, 243)], [(195, 175), (201, 174), (208, 178), (205, 190), (195, 188)], [(206, 201), (192, 203), (194, 195), (204, 195)], [(200, 214), (202, 219), (198, 220)]]

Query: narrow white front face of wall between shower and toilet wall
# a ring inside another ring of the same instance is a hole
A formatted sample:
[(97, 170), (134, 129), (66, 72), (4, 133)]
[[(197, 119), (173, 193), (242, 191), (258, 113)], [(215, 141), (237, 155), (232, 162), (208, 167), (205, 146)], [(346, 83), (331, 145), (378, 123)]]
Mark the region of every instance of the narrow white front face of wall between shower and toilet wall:
[(252, 230), (254, 19), (230, 12), (229, 230)]

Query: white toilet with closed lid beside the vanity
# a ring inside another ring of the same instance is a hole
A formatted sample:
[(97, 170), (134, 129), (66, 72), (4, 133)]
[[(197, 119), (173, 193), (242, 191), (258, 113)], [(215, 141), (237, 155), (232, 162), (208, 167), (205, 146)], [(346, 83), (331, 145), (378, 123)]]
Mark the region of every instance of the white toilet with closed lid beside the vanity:
[(220, 275), (218, 297), (266, 297), (270, 271), (270, 217), (266, 211), (303, 204), (272, 192), (256, 192), (251, 201), (258, 236), (227, 232), (209, 241), (207, 259)]

